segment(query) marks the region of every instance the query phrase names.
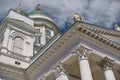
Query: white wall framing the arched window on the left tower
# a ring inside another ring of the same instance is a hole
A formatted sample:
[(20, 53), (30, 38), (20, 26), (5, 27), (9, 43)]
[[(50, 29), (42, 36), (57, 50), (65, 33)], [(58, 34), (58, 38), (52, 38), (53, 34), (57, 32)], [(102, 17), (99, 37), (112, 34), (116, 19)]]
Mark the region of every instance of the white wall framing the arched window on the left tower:
[(2, 49), (1, 52), (7, 53), (7, 49), (9, 51), (13, 51), (13, 42), (14, 37), (22, 35), (24, 38), (24, 46), (23, 46), (23, 53), (21, 55), (30, 57), (33, 56), (33, 45), (34, 45), (34, 37), (31, 37), (32, 34), (29, 32), (25, 32), (22, 29), (17, 28), (12, 24), (8, 24), (5, 32), (4, 32), (4, 39), (2, 42), (2, 47), (6, 49)]

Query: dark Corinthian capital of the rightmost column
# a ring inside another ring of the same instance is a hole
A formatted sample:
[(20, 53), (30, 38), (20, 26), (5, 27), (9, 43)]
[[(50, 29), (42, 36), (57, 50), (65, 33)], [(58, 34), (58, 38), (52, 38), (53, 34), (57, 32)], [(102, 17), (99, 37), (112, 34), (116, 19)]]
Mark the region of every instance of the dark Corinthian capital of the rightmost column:
[(105, 57), (103, 60), (98, 63), (102, 70), (112, 69), (114, 60)]

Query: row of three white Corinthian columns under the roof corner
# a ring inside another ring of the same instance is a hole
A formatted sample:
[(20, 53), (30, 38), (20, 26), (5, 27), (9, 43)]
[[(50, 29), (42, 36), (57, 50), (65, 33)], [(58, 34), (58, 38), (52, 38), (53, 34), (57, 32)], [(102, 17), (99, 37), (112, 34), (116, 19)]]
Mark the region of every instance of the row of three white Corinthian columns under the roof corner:
[[(91, 52), (90, 49), (87, 49), (82, 45), (75, 52), (78, 56), (81, 80), (93, 80), (89, 65), (89, 60), (88, 60), (88, 55), (90, 52)], [(113, 66), (112, 62), (113, 60), (105, 57), (98, 64), (102, 68), (102, 70), (104, 70), (104, 75), (106, 80), (115, 80), (115, 76), (112, 71), (112, 66)], [(55, 68), (55, 72), (56, 72), (56, 80), (69, 80), (68, 76), (66, 75), (66, 71), (64, 70), (62, 65), (57, 65)], [(46, 79), (42, 78), (41, 80), (46, 80)]]

